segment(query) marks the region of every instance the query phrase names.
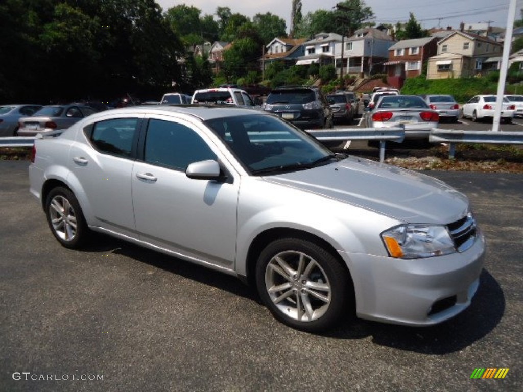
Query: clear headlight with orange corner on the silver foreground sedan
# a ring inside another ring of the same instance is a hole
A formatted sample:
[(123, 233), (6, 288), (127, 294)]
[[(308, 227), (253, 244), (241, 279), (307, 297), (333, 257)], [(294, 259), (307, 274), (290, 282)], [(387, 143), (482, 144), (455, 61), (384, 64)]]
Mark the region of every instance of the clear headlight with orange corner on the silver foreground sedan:
[(381, 233), (391, 257), (420, 259), (456, 252), (446, 226), (401, 225)]

